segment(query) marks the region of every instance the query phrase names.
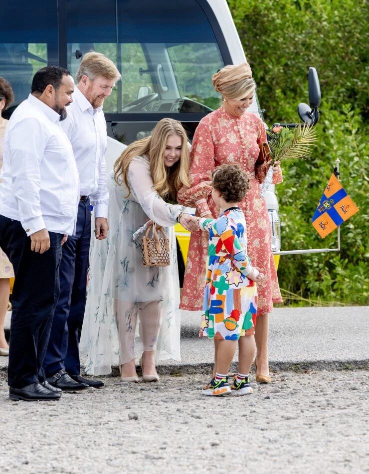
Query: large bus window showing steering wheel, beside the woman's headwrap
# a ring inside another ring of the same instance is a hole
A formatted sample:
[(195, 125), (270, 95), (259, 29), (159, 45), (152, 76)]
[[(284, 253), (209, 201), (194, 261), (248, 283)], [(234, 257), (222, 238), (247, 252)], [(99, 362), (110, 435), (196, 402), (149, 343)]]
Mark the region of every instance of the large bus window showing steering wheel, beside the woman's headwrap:
[(206, 112), (218, 106), (211, 76), (224, 61), (196, 0), (118, 0), (117, 25), (119, 112)]

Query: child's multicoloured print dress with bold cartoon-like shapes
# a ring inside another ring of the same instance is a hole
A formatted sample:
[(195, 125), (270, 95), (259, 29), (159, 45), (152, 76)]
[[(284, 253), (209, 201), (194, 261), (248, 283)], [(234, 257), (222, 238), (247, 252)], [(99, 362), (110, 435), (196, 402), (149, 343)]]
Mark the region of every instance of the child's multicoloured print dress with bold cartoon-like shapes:
[(252, 335), (257, 289), (247, 278), (253, 267), (243, 212), (231, 207), (216, 220), (200, 219), (199, 225), (209, 232), (200, 337), (233, 341)]

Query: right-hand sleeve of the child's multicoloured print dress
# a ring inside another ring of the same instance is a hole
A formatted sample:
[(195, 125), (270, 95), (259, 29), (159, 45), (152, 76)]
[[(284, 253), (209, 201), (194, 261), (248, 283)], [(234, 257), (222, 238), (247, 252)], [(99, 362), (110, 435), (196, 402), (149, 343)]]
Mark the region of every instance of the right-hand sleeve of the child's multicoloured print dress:
[(214, 227), (226, 251), (231, 256), (234, 266), (238, 268), (242, 275), (250, 275), (254, 268), (238, 240), (235, 221), (230, 217), (221, 216), (216, 220)]

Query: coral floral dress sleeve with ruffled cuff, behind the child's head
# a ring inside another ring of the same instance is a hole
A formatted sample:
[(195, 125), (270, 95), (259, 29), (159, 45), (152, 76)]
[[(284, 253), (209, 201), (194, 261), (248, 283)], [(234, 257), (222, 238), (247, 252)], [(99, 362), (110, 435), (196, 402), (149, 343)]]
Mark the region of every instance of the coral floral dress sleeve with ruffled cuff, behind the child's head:
[(214, 143), (208, 123), (198, 124), (193, 135), (190, 153), (190, 186), (183, 186), (178, 192), (178, 202), (195, 206), (200, 217), (211, 214), (207, 199), (211, 194), (211, 174), (215, 167)]

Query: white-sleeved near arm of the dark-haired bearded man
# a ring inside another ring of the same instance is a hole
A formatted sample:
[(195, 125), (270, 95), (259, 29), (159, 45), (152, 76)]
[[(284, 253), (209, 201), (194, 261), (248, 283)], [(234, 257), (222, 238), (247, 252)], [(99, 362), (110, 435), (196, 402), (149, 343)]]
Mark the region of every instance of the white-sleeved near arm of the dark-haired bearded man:
[(38, 120), (26, 118), (11, 130), (9, 161), (20, 223), (29, 236), (45, 229), (40, 205), (40, 163), (47, 138)]

